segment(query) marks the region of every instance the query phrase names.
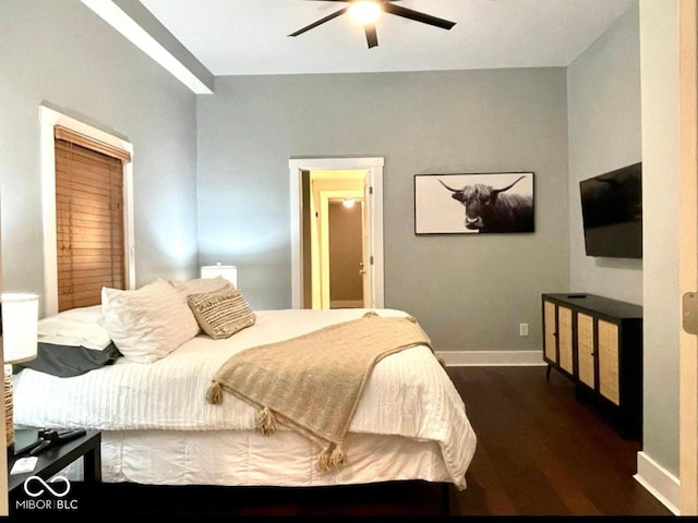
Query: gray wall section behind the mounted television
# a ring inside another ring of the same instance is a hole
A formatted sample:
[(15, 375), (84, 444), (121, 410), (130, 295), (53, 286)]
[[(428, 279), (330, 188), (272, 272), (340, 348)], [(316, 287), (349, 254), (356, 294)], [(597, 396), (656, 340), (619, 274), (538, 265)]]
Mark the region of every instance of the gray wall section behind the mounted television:
[(642, 304), (642, 260), (585, 254), (579, 181), (642, 159), (637, 5), (567, 69), (570, 290)]

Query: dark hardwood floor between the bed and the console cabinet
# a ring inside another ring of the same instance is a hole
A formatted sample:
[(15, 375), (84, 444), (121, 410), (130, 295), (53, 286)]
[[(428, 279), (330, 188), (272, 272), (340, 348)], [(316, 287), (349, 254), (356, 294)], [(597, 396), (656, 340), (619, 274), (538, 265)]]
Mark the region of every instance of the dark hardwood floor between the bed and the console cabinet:
[(624, 439), (574, 385), (545, 367), (459, 367), (449, 375), (478, 434), (464, 515), (673, 515), (633, 477)]

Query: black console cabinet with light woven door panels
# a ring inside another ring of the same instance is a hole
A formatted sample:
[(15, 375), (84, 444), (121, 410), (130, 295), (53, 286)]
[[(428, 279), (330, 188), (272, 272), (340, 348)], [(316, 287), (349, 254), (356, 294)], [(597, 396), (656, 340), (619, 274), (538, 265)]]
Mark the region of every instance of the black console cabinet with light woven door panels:
[(624, 437), (642, 436), (642, 307), (585, 294), (543, 294), (543, 360), (575, 382)]

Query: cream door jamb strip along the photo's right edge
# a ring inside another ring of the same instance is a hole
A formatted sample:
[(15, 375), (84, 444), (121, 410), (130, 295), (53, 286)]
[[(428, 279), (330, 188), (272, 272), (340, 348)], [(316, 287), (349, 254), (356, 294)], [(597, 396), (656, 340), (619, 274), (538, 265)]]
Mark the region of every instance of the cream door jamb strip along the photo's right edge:
[[(698, 291), (698, 9), (679, 0), (681, 89), (681, 266), (684, 296)], [(682, 314), (682, 321), (686, 315)], [(694, 329), (679, 339), (681, 515), (698, 514), (698, 338)]]

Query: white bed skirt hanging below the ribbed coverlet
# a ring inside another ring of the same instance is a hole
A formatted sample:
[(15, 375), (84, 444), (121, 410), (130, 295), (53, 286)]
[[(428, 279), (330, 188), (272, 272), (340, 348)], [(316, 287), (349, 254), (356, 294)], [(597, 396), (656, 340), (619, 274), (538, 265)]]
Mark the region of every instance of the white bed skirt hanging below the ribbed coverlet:
[[(453, 483), (435, 441), (349, 434), (345, 450), (350, 462), (321, 473), (315, 466), (315, 443), (290, 430), (274, 436), (230, 430), (106, 431), (101, 435), (101, 478), (148, 485), (275, 487), (413, 479)], [(64, 475), (79, 479), (81, 472), (75, 467)]]

